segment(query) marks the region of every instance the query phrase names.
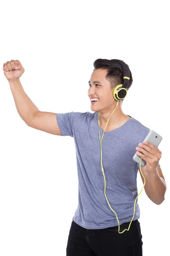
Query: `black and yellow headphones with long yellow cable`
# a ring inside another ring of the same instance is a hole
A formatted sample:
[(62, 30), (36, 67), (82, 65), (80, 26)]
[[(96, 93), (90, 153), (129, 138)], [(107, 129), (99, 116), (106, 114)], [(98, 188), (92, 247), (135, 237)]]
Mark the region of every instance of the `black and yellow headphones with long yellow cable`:
[[(127, 65), (125, 64), (124, 61), (120, 61), (120, 60), (116, 60), (116, 59), (114, 59), (113, 61), (119, 62), (119, 64), (122, 66), (122, 70), (123, 70), (123, 79), (124, 79), (124, 84), (119, 84), (119, 85), (117, 85), (117, 86), (114, 88), (114, 90), (113, 90), (113, 97), (114, 97), (114, 99), (117, 100), (117, 105), (116, 105), (116, 108), (117, 108), (119, 101), (122, 100), (122, 99), (125, 99), (125, 97), (126, 97), (126, 95), (127, 95), (127, 86), (128, 86), (128, 84), (129, 84), (129, 79), (130, 79), (130, 71), (129, 71), (129, 68), (127, 67)], [(116, 108), (113, 110), (113, 112), (116, 110)], [(113, 112), (111, 113), (111, 115), (113, 114)], [(99, 115), (100, 115), (100, 113), (99, 113)], [(99, 118), (99, 115), (98, 115), (98, 118)], [(110, 116), (111, 116), (111, 115), (110, 115)], [(109, 116), (109, 118), (110, 118), (110, 116)], [(108, 118), (108, 121), (109, 121), (109, 118)], [(107, 123), (106, 123), (106, 126), (108, 125), (108, 121), (107, 121)], [(106, 126), (105, 126), (105, 129), (106, 129)], [(105, 130), (104, 130), (104, 133), (105, 133)], [(104, 133), (103, 133), (103, 135), (104, 135)], [(103, 138), (103, 135), (102, 135), (102, 138)], [(100, 147), (101, 147), (101, 166), (102, 166), (102, 173), (103, 173), (104, 180), (105, 180), (104, 169), (103, 169), (103, 165), (102, 165), (102, 139), (100, 140), (100, 122), (99, 122), (99, 141), (100, 141)], [(142, 161), (142, 157), (141, 157), (141, 160), (140, 160), (140, 172), (141, 172), (142, 176), (144, 177), (144, 175), (143, 175), (143, 173), (142, 173), (142, 170), (141, 170), (141, 161)], [(145, 178), (144, 178), (144, 185), (145, 185), (145, 182), (146, 182), (146, 181), (145, 181)], [(144, 185), (143, 185), (143, 187), (142, 187), (142, 190), (143, 190), (143, 188), (144, 188)], [(140, 193), (138, 194), (138, 196), (141, 194), (142, 190), (140, 191)], [(134, 215), (135, 215), (135, 205), (136, 205), (136, 200), (137, 200), (138, 196), (136, 197), (135, 202), (134, 202), (133, 218), (134, 218)], [(107, 196), (106, 196), (106, 180), (105, 180), (105, 198), (106, 198), (106, 200), (107, 200), (107, 202), (108, 202), (109, 207), (111, 208), (111, 206), (110, 206), (110, 204), (109, 204), (109, 201), (108, 201), (108, 198), (107, 198)], [(116, 214), (116, 212), (115, 212), (112, 208), (111, 208), (111, 210)], [(118, 217), (117, 217), (117, 214), (116, 214), (116, 218), (117, 218), (118, 225), (119, 225), (119, 219), (118, 219)], [(129, 231), (130, 225), (131, 225), (131, 223), (132, 223), (132, 221), (133, 221), (133, 218), (132, 218), (132, 220), (130, 221), (130, 224), (129, 224), (128, 229), (125, 229), (125, 230)], [(125, 232), (125, 230), (123, 230), (122, 232), (119, 232), (119, 230), (120, 230), (120, 226), (119, 226), (119, 229), (118, 229), (118, 233), (119, 233), (119, 234), (122, 234), (123, 232)]]

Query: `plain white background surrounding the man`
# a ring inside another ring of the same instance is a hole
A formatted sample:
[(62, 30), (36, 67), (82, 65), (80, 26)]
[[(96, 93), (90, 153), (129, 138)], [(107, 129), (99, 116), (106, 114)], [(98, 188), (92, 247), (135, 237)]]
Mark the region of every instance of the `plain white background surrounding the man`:
[[(165, 200), (139, 195), (143, 255), (169, 251), (168, 1), (3, 1), (0, 4), (0, 255), (66, 255), (78, 204), (72, 137), (28, 127), (3, 63), (19, 60), (27, 95), (40, 111), (91, 111), (88, 81), (97, 58), (121, 59), (133, 84), (122, 110), (163, 137)], [(137, 146), (137, 145), (136, 145)], [(138, 190), (143, 183), (138, 173)]]

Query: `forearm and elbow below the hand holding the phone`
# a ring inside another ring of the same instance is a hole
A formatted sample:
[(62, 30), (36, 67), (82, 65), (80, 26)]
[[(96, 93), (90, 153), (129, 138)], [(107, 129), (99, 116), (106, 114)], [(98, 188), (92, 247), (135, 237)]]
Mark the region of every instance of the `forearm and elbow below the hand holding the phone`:
[(167, 187), (164, 179), (159, 176), (157, 169), (155, 169), (153, 173), (147, 174), (144, 189), (148, 198), (150, 198), (153, 203), (161, 204), (164, 201)]

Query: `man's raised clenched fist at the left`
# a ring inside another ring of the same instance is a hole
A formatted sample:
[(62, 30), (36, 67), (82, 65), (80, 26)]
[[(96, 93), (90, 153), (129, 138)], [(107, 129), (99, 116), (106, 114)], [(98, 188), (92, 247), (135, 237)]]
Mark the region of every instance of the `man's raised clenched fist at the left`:
[(10, 81), (19, 79), (25, 72), (25, 69), (20, 64), (20, 61), (11, 60), (3, 64), (3, 71), (4, 75), (6, 76), (6, 79)]

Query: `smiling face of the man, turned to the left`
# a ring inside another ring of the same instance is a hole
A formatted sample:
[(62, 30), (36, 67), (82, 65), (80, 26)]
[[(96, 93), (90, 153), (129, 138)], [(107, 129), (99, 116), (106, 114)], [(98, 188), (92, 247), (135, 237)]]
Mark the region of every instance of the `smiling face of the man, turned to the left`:
[[(88, 97), (98, 98), (94, 104), (91, 103), (91, 110), (98, 111), (106, 110), (111, 111), (114, 108), (115, 99), (113, 98), (113, 89), (111, 84), (105, 79), (107, 70), (94, 70), (91, 74), (89, 83)], [(98, 82), (96, 82), (98, 81)]]

